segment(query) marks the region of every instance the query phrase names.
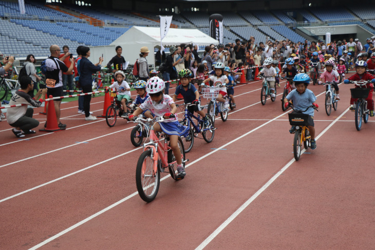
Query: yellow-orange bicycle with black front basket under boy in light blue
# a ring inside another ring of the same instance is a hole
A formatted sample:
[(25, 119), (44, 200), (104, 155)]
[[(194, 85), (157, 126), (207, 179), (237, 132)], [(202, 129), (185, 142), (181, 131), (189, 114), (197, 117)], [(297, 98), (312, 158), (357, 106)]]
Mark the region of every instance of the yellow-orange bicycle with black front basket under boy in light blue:
[(288, 116), (289, 116), (290, 125), (295, 126), (294, 141), (293, 141), (293, 154), (294, 154), (294, 159), (298, 161), (299, 157), (301, 156), (302, 143), (304, 144), (305, 149), (308, 149), (311, 146), (310, 130), (307, 127), (307, 120), (310, 115), (304, 114), (302, 112), (305, 112), (309, 108), (313, 108), (316, 111), (318, 110), (314, 105), (311, 105), (305, 110), (294, 109), (292, 104), (289, 105), (289, 107), (291, 107), (295, 112), (297, 112), (297, 113), (288, 113)]

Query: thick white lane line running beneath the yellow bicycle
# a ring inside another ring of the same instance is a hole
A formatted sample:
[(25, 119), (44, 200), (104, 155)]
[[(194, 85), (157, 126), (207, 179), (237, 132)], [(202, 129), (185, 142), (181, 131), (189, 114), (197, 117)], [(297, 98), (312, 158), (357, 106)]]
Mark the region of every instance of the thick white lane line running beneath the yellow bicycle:
[[(330, 125), (328, 125), (316, 138), (315, 140), (317, 140), (318, 138), (320, 138), (321, 136), (323, 136), (323, 134), (325, 132), (328, 131), (329, 128), (331, 128), (333, 126), (333, 124), (335, 124), (348, 110), (345, 110), (343, 113), (340, 114), (339, 117), (337, 117)], [(305, 152), (306, 149), (303, 149), (301, 151), (301, 153)], [(224, 228), (226, 228), (229, 223), (231, 223), (243, 210), (245, 210), (245, 208), (247, 208), (251, 202), (253, 202), (261, 193), (263, 193), (264, 190), (266, 190), (267, 187), (269, 187), (272, 182), (274, 182), (281, 174), (283, 174), (283, 172), (288, 169), (288, 167), (290, 165), (292, 165), (292, 163), (295, 162), (295, 159), (293, 158), (292, 160), (290, 160), (282, 169), (280, 169), (276, 175), (274, 175), (263, 187), (261, 187), (258, 191), (256, 191), (256, 193), (250, 197), (249, 200), (247, 200), (245, 203), (243, 203), (226, 221), (224, 221), (218, 228), (216, 228), (216, 230), (209, 236), (207, 237), (207, 239), (205, 239), (199, 246), (197, 246), (197, 248), (195, 248), (195, 250), (201, 250), (203, 249), (205, 246), (207, 246)]]

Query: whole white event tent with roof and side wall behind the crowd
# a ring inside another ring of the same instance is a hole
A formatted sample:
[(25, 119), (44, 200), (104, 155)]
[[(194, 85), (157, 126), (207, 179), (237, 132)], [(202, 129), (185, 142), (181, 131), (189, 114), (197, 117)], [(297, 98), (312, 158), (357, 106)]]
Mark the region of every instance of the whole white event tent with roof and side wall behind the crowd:
[[(177, 46), (184, 44), (210, 45), (219, 44), (207, 34), (197, 29), (170, 29), (163, 39), (163, 46)], [(133, 26), (109, 46), (96, 46), (90, 49), (91, 55), (88, 58), (91, 62), (97, 63), (99, 56), (104, 54), (103, 66), (116, 55), (116, 46), (122, 47), (122, 55), (130, 64), (134, 64), (139, 58), (140, 48), (147, 46), (150, 53), (146, 57), (148, 64), (155, 65), (154, 47), (160, 46), (160, 28)], [(113, 52), (109, 52), (113, 51)]]

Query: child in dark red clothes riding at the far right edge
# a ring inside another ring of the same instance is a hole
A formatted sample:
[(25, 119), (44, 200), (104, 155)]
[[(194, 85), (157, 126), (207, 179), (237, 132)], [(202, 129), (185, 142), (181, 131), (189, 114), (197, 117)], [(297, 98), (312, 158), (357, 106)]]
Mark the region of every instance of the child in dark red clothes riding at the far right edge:
[[(359, 80), (371, 80), (371, 83), (366, 84), (366, 88), (370, 89), (370, 93), (368, 94), (368, 97), (366, 98), (367, 101), (367, 109), (370, 110), (370, 117), (374, 116), (373, 112), (373, 100), (372, 100), (372, 91), (373, 91), (373, 83), (375, 83), (374, 76), (368, 72), (366, 72), (367, 69), (367, 63), (365, 61), (359, 61), (355, 63), (355, 74), (350, 76), (347, 80), (344, 81), (345, 84), (350, 83), (349, 81), (359, 81)], [(355, 85), (355, 88), (362, 88), (360, 86)], [(350, 98), (350, 110), (355, 109), (354, 102), (357, 101), (357, 99)]]

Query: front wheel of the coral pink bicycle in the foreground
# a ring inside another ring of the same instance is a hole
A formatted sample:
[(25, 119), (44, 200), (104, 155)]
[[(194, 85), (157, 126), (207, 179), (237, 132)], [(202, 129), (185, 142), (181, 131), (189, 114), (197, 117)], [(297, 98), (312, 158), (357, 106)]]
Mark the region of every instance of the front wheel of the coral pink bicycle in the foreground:
[(137, 162), (136, 184), (139, 196), (145, 202), (151, 202), (155, 199), (159, 191), (160, 171), (157, 168), (154, 172), (154, 159), (151, 156), (151, 150), (141, 153)]

